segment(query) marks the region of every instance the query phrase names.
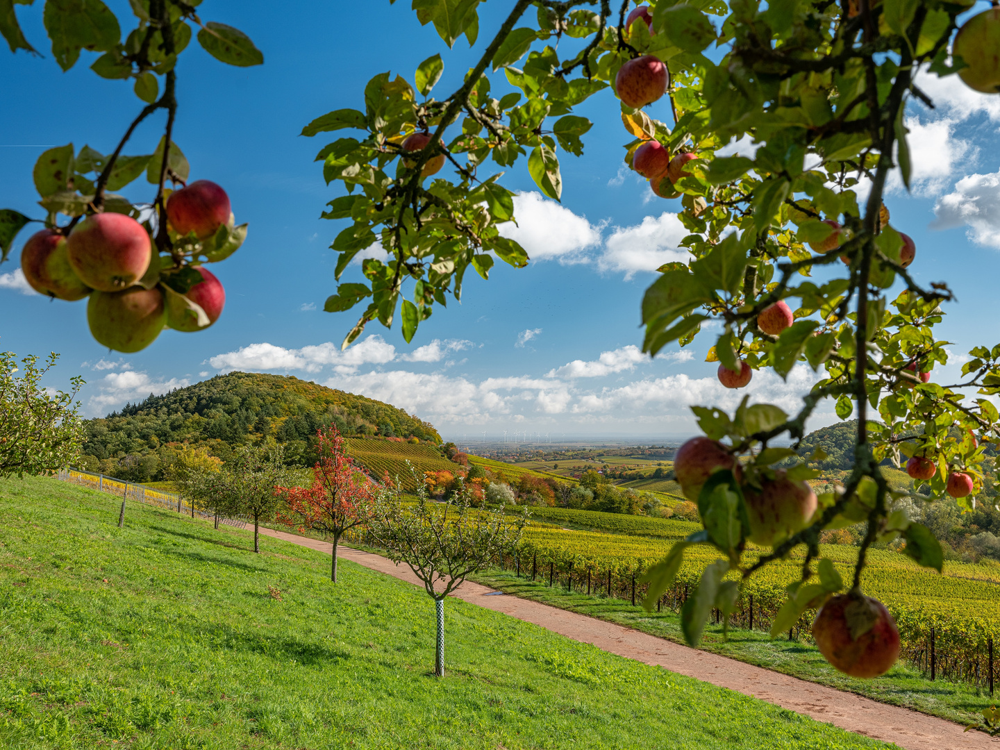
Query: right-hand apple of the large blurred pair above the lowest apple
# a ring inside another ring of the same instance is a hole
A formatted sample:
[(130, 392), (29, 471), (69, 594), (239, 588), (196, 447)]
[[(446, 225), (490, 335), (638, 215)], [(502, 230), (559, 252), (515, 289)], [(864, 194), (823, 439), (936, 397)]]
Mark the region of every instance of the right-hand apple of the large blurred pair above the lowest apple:
[(774, 474), (774, 479), (764, 480), (760, 489), (749, 484), (743, 487), (750, 517), (750, 541), (765, 547), (802, 531), (818, 503), (808, 482), (788, 479), (784, 469)]

